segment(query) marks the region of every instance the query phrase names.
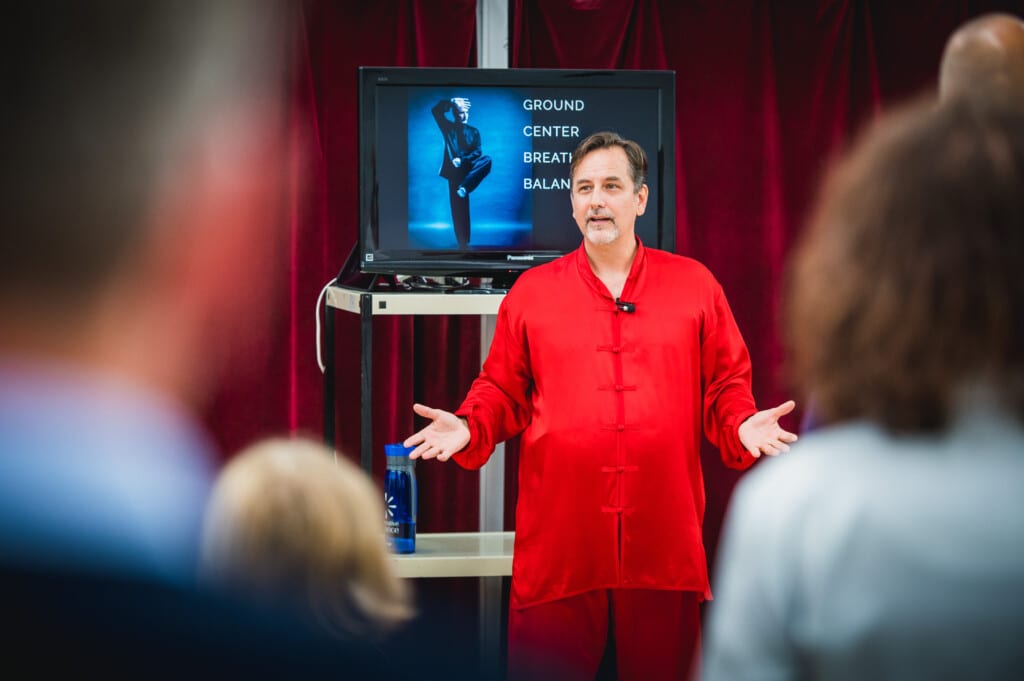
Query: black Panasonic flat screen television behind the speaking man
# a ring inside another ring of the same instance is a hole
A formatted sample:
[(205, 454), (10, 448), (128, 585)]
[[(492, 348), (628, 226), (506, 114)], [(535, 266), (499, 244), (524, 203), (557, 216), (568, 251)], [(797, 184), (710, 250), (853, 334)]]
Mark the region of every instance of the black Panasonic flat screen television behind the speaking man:
[(580, 246), (572, 150), (612, 130), (648, 155), (644, 244), (675, 249), (675, 73), (358, 73), (361, 273), (514, 276)]

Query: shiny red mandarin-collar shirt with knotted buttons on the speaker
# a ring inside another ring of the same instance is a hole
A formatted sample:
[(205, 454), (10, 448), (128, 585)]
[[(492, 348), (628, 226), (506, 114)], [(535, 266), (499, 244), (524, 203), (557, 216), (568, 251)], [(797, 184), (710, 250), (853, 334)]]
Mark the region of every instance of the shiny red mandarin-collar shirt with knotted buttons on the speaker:
[(754, 462), (736, 434), (757, 411), (750, 355), (695, 260), (638, 242), (620, 300), (633, 311), (583, 246), (523, 272), (457, 412), (466, 468), (522, 433), (513, 607), (594, 589), (710, 597), (700, 434), (727, 466)]

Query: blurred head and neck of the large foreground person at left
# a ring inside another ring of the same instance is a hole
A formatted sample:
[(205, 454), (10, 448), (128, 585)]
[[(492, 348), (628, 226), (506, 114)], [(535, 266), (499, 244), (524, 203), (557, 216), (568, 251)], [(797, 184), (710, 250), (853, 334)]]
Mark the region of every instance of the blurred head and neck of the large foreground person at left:
[(187, 405), (209, 393), (261, 326), (244, 302), (278, 239), (285, 14), (265, 0), (6, 12), (0, 357)]

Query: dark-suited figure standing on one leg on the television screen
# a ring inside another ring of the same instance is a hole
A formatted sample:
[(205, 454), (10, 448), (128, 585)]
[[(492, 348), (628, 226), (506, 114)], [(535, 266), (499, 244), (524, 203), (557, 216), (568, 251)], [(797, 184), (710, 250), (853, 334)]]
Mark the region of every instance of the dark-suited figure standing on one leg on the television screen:
[(469, 125), (469, 99), (441, 99), (430, 113), (444, 137), (438, 174), (449, 181), (452, 226), (459, 248), (469, 248), (469, 195), (490, 172), (490, 157), (480, 151), (480, 131)]

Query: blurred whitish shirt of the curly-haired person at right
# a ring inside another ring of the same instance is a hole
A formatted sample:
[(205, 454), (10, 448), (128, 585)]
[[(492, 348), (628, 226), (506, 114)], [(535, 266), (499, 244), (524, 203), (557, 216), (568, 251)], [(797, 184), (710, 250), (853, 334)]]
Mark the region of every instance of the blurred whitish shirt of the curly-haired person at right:
[(1024, 428), (803, 437), (738, 485), (703, 678), (1024, 678)]

